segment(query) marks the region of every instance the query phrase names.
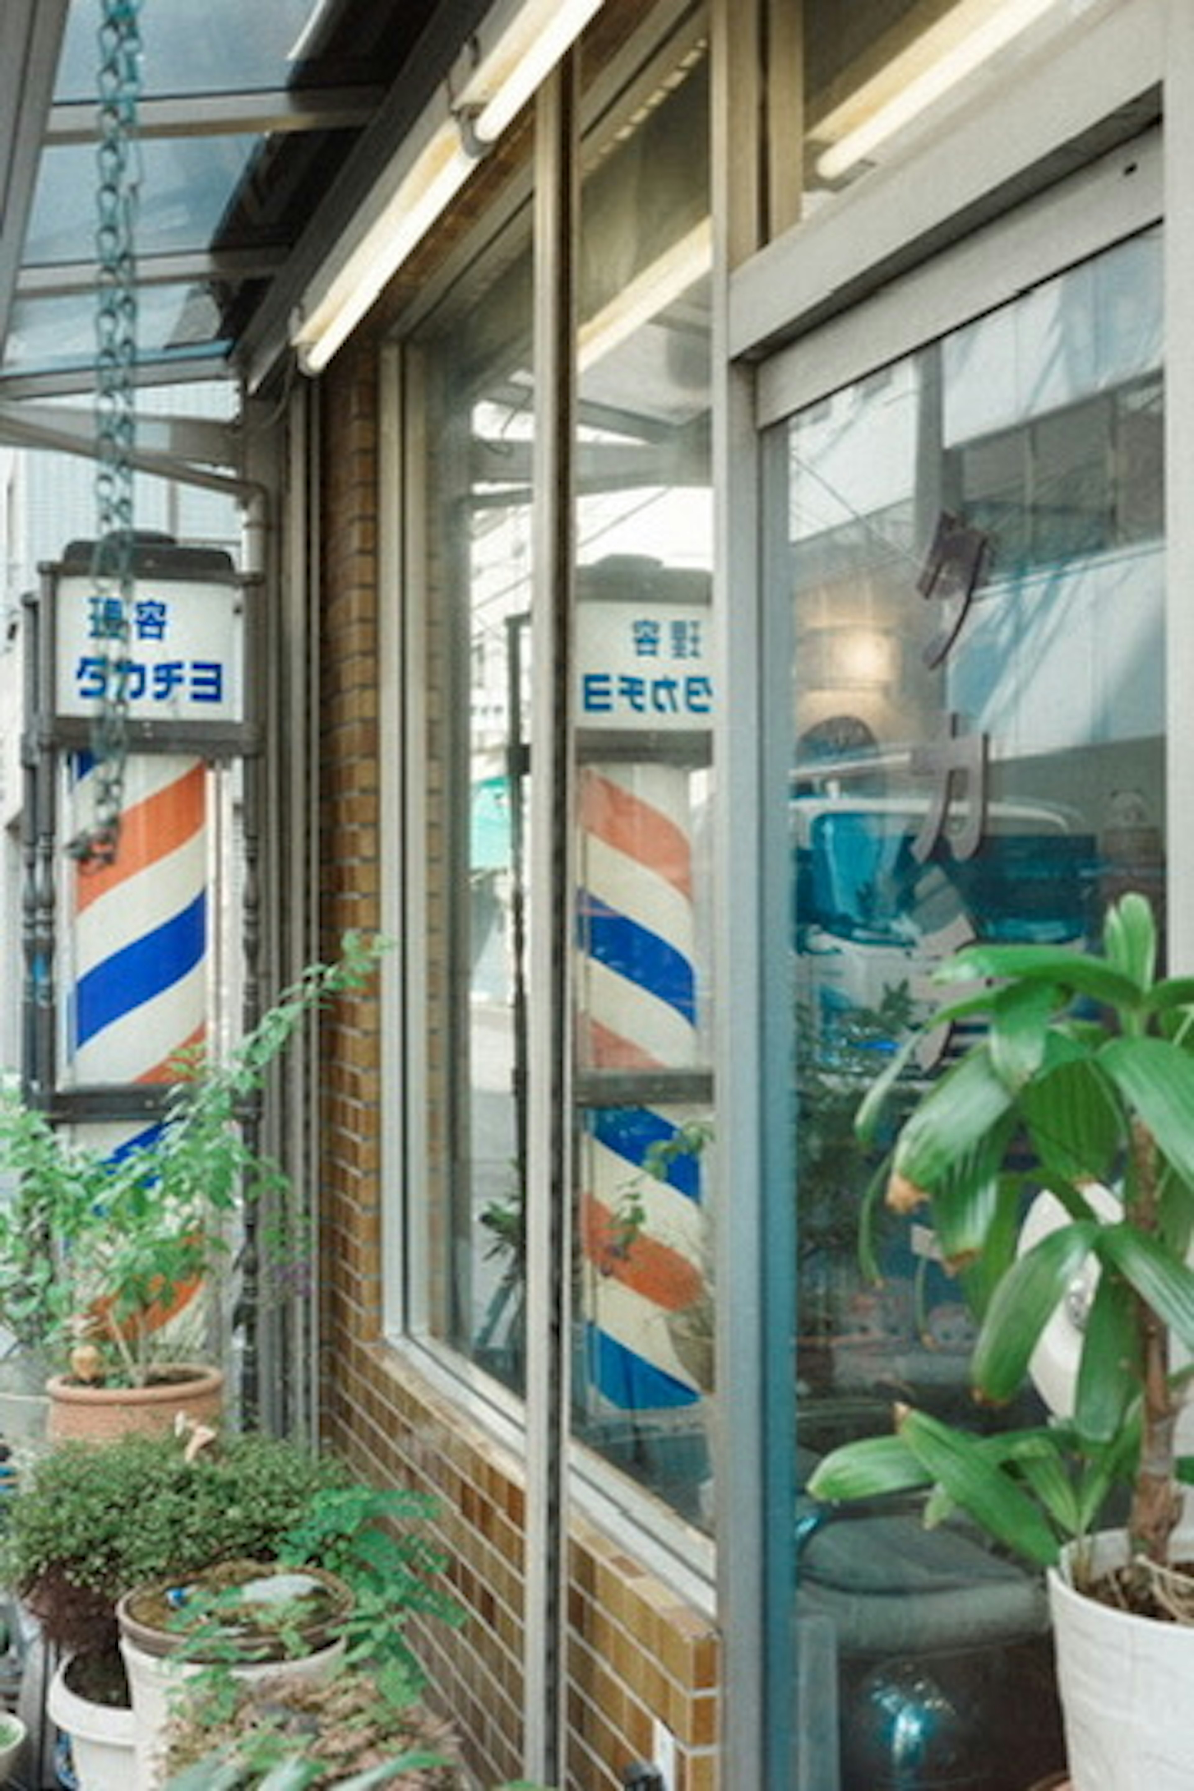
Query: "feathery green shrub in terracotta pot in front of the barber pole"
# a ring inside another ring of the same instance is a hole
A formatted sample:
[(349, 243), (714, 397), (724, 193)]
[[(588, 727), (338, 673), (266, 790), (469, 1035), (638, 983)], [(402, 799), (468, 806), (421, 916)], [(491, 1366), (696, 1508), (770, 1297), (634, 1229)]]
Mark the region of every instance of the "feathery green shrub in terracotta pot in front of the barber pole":
[(227, 1058), (181, 1060), (163, 1123), (131, 1150), (77, 1143), (0, 1094), (0, 1168), (16, 1177), (0, 1205), (0, 1324), (70, 1361), (48, 1386), (52, 1436), (168, 1427), (195, 1379), (188, 1410), (204, 1422), (218, 1410), (218, 1370), (161, 1361), (163, 1322), (220, 1266), (243, 1204), (283, 1180), (238, 1125), (270, 1064), (311, 1008), (369, 978), (380, 949), (349, 933)]

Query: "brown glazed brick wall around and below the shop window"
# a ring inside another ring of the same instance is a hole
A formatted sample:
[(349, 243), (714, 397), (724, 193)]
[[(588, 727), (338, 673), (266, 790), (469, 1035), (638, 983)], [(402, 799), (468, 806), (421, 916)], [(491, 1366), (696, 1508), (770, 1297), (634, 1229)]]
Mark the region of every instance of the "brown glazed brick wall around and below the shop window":
[[(380, 922), (378, 378), (371, 349), (324, 380), (320, 928)], [(388, 741), (387, 750), (397, 750)], [(328, 1442), (380, 1483), (435, 1492), (467, 1623), (426, 1633), (437, 1701), (482, 1784), (516, 1777), (521, 1743), (523, 1481), (503, 1453), (381, 1336), (380, 1050), (369, 996), (322, 1033), (322, 1413)], [(616, 1791), (650, 1757), (652, 1718), (678, 1741), (677, 1791), (716, 1787), (716, 1641), (625, 1542), (575, 1524), (569, 1555), (567, 1791)]]

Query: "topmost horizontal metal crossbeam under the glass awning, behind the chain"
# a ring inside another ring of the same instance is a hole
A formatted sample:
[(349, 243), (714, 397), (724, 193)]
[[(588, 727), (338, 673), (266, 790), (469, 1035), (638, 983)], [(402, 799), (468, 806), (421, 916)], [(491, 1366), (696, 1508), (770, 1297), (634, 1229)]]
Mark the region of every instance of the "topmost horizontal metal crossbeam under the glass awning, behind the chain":
[[(150, 136), (265, 136), (281, 131), (358, 131), (369, 124), (381, 88), (269, 88), (261, 93), (183, 93), (177, 99), (141, 99), (136, 133)], [(95, 143), (95, 100), (52, 106), (47, 147)]]

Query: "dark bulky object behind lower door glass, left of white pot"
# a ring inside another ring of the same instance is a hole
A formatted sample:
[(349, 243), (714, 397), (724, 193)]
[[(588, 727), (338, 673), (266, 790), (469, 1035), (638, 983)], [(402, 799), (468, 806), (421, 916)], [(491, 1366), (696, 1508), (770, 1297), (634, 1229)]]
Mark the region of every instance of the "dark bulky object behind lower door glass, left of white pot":
[[(816, 1456), (800, 1451), (802, 1479)], [(961, 1522), (906, 1503), (797, 1513), (800, 1678), (820, 1712), (809, 1782), (841, 1791), (1008, 1791), (1065, 1762), (1045, 1589)], [(809, 1662), (807, 1655), (816, 1657)], [(804, 1712), (800, 1727), (806, 1728)], [(992, 1737), (999, 1737), (997, 1755)]]

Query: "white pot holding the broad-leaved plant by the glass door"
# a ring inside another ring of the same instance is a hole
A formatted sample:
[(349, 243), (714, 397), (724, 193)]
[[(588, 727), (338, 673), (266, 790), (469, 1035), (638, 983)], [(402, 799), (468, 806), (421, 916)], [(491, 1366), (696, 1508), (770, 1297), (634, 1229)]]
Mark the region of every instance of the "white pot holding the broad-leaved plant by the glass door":
[[(1187, 1544), (1194, 1547), (1194, 1537)], [(1124, 1531), (1104, 1531), (1087, 1547), (1096, 1572), (1128, 1560)], [(1049, 1572), (1072, 1787), (1190, 1791), (1194, 1628), (1135, 1617), (1076, 1592), (1074, 1549)]]

